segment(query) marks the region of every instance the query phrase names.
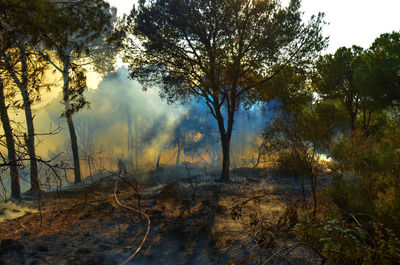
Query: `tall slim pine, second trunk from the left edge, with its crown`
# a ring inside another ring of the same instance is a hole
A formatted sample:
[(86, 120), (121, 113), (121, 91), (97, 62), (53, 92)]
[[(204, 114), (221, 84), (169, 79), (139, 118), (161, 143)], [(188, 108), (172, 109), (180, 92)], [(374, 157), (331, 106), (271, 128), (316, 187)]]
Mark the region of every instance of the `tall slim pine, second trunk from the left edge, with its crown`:
[[(7, 77), (20, 90), (25, 113), (27, 135), (25, 142), (30, 157), (31, 190), (39, 190), (38, 166), (35, 152), (35, 129), (32, 102), (39, 99), (41, 79), (45, 64), (33, 53), (33, 46), (39, 41), (41, 25), (45, 24), (48, 9), (44, 1), (1, 1), (0, 30), (2, 49), (1, 64), (7, 70)], [(35, 95), (36, 93), (36, 95)]]

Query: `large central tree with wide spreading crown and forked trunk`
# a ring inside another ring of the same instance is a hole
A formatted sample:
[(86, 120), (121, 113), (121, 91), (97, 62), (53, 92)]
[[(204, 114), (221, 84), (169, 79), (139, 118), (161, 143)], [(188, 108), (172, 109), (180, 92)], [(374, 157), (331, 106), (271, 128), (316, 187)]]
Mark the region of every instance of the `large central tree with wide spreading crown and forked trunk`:
[(299, 8), (299, 0), (285, 8), (278, 1), (142, 0), (128, 17), (128, 36), (136, 38), (125, 44), (130, 77), (145, 89), (160, 86), (168, 102), (204, 100), (218, 123), (223, 181), (238, 106), (280, 66), (307, 68), (325, 46), (323, 15), (304, 24)]

